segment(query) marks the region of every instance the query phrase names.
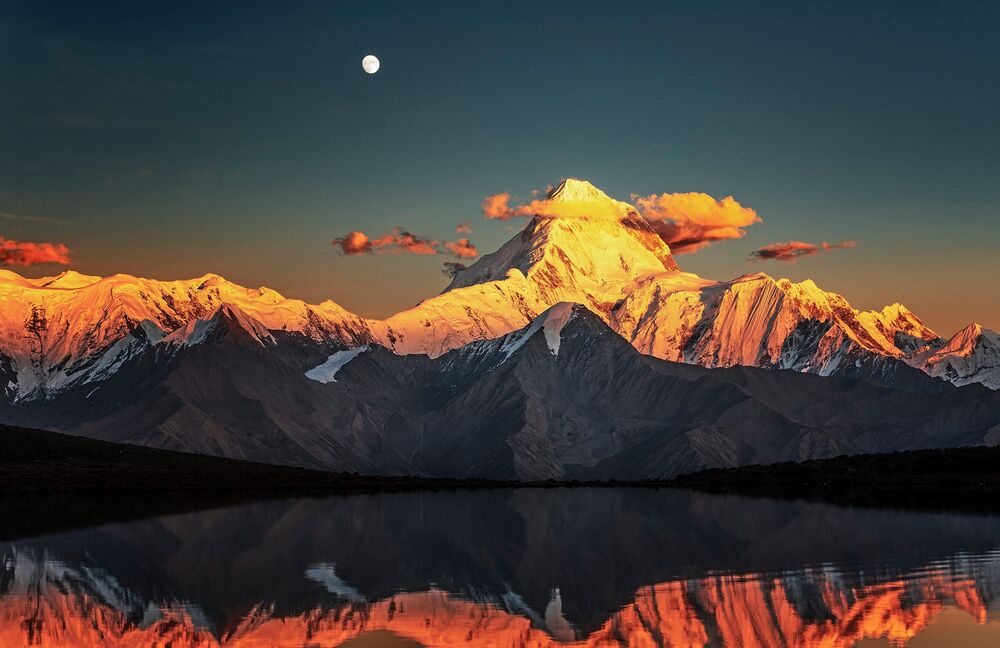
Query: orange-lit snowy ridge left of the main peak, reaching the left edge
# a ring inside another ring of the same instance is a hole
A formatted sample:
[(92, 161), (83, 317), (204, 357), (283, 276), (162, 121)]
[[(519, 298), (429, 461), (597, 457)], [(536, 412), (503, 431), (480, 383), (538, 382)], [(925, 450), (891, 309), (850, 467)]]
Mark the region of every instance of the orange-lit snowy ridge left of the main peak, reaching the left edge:
[(28, 280), (3, 271), (0, 354), (11, 366), (8, 395), (45, 397), (70, 384), (92, 382), (116, 366), (116, 359), (134, 354), (136, 345), (194, 326), (223, 305), (248, 314), (265, 330), (347, 346), (371, 340), (368, 322), (332, 301), (313, 306), (218, 275), (156, 281), (67, 272)]

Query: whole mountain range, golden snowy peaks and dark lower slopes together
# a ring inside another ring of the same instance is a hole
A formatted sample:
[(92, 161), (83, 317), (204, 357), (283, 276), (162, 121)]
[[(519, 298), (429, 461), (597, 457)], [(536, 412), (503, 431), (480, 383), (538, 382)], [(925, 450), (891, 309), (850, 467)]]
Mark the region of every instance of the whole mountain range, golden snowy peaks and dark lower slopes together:
[[(553, 209), (384, 320), (218, 275), (0, 272), (0, 421), (372, 474), (665, 477), (1000, 440), (1000, 336), (679, 269), (631, 205)], [(815, 375), (809, 375), (815, 374)]]

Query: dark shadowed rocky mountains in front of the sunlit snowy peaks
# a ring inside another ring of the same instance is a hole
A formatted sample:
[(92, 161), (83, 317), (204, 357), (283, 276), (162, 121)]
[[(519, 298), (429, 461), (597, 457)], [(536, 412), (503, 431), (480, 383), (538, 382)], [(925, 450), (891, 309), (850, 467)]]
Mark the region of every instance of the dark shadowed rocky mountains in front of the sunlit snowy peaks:
[[(220, 310), (97, 388), (0, 417), (111, 441), (368, 474), (662, 478), (708, 467), (976, 445), (1000, 393), (644, 356), (581, 305), (438, 358), (345, 354)], [(335, 367), (335, 369), (333, 369)], [(323, 368), (323, 370), (317, 370)]]

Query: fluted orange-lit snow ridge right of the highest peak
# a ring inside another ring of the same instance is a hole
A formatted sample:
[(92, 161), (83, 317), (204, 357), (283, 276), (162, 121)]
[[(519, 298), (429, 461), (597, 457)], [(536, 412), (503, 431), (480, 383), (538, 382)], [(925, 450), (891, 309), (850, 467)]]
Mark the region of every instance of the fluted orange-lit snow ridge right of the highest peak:
[(610, 323), (639, 351), (667, 360), (824, 376), (866, 377), (865, 367), (887, 384), (907, 373), (907, 351), (938, 339), (898, 304), (860, 312), (812, 281), (763, 273), (688, 286), (649, 278), (615, 305)]

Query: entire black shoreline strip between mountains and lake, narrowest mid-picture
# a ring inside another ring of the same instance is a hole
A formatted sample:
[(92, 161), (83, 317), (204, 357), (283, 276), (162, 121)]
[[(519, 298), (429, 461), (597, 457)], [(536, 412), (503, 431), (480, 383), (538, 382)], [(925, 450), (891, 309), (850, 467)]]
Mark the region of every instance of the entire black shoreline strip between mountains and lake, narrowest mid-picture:
[(261, 499), (483, 488), (681, 488), (911, 510), (1000, 512), (1000, 447), (710, 469), (669, 480), (365, 477), (0, 426), (0, 539)]

